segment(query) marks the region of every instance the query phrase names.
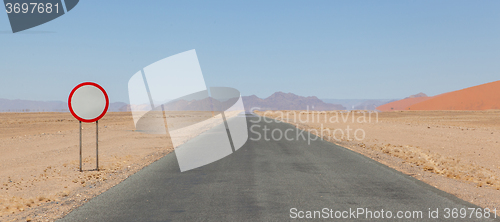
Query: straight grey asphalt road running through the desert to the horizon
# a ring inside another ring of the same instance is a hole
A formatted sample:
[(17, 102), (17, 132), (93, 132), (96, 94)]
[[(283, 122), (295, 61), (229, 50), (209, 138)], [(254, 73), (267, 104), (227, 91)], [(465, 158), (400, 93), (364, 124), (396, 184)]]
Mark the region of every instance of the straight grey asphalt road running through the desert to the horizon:
[[(298, 218), (308, 216), (307, 211), (320, 211), (309, 215), (316, 220), (457, 221), (445, 218), (445, 208), (457, 208), (458, 217), (460, 208), (477, 208), (332, 143), (308, 144), (307, 134), (306, 140), (297, 140), (292, 125), (256, 124), (253, 131), (260, 140), (249, 132), (253, 139), (221, 160), (181, 173), (171, 153), (61, 221), (310, 221)], [(264, 126), (293, 129), (289, 138), (294, 140), (266, 141)], [(356, 214), (360, 209), (365, 212)], [(429, 219), (429, 209), (438, 209), (439, 218)], [(387, 219), (388, 211), (393, 218)], [(470, 212), (463, 221), (476, 219), (469, 218)], [(395, 219), (398, 214), (410, 219)]]

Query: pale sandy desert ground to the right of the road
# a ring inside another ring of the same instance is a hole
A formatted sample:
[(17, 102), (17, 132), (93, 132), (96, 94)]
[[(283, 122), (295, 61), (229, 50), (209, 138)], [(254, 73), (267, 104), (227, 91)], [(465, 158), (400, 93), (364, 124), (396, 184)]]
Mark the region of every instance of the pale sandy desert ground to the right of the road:
[(500, 208), (500, 111), (397, 111), (372, 113), (371, 119), (366, 111), (257, 113), (307, 129), (465, 201)]

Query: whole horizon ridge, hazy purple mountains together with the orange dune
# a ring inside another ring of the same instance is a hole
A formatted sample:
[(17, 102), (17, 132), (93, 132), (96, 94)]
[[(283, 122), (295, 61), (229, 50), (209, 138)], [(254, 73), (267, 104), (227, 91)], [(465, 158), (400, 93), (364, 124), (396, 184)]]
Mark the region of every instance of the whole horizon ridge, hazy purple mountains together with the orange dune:
[[(316, 96), (299, 96), (276, 92), (261, 99), (255, 95), (242, 96), (246, 110), (487, 110), (500, 109), (500, 81), (490, 82), (453, 92), (429, 97), (425, 93), (411, 95), (401, 100), (390, 99), (318, 99)], [(179, 99), (167, 103), (167, 110), (218, 110), (225, 109), (234, 101)], [(146, 109), (149, 104), (137, 105)], [(0, 99), (0, 112), (68, 112), (68, 105), (61, 101), (30, 101)], [(123, 102), (111, 103), (109, 112), (130, 111)]]

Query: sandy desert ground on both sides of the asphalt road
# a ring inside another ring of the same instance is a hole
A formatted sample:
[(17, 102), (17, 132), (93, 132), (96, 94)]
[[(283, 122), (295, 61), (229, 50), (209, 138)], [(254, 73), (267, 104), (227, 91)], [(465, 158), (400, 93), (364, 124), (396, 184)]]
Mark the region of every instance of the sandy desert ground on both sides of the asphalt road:
[[(266, 116), (323, 131), (325, 140), (466, 201), (500, 206), (500, 111)], [(134, 129), (130, 113), (108, 113), (99, 121), (101, 170), (95, 171), (95, 124), (83, 124), (80, 173), (78, 121), (69, 113), (0, 113), (0, 221), (53, 221), (173, 151), (166, 135)]]

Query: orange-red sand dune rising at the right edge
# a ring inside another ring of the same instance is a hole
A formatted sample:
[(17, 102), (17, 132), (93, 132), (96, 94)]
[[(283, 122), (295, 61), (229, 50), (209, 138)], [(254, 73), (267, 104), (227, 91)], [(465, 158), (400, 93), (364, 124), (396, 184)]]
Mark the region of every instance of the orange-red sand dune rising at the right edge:
[[(500, 81), (473, 86), (412, 104), (406, 110), (487, 110), (500, 109)], [(398, 102), (398, 101), (396, 101)]]

